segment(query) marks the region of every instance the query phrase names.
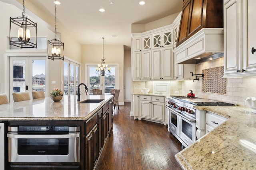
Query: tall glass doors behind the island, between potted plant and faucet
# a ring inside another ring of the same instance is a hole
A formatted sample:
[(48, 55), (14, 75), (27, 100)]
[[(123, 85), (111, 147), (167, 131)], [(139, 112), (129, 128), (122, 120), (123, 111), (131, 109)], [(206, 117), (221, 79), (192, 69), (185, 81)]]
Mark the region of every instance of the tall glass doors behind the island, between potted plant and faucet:
[(64, 95), (76, 95), (80, 83), (80, 64), (64, 60)]

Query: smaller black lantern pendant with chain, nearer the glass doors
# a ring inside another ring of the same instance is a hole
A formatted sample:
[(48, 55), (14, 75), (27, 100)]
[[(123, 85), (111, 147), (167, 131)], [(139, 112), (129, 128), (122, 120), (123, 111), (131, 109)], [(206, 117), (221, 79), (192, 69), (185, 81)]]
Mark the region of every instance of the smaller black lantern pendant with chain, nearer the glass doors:
[[(56, 2), (56, 1), (55, 1)], [(57, 8), (55, 3), (55, 39), (48, 40), (48, 59), (64, 60), (64, 43), (57, 39)]]

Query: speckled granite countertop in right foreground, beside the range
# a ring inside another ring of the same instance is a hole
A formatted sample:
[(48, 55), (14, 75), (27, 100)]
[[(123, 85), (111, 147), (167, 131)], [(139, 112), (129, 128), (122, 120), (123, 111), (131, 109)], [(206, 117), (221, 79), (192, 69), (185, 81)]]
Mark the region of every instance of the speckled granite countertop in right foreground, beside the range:
[(195, 108), (218, 113), (228, 120), (177, 153), (180, 166), (186, 170), (256, 169), (256, 113), (240, 106)]

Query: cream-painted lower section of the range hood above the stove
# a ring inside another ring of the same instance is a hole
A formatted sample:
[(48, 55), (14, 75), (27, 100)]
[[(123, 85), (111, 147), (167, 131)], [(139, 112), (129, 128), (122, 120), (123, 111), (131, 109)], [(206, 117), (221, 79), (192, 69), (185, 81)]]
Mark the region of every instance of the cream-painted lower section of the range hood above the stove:
[(202, 28), (173, 50), (175, 64), (198, 64), (223, 57), (223, 28)]

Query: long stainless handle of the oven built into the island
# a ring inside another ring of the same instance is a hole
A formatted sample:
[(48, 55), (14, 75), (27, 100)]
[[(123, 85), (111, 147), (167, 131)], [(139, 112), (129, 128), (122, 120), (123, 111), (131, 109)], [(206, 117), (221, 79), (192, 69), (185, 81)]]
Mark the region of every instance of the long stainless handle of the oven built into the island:
[(63, 134), (63, 135), (18, 135), (7, 133), (8, 138), (16, 139), (67, 139), (67, 138), (77, 138), (79, 133), (74, 134)]

